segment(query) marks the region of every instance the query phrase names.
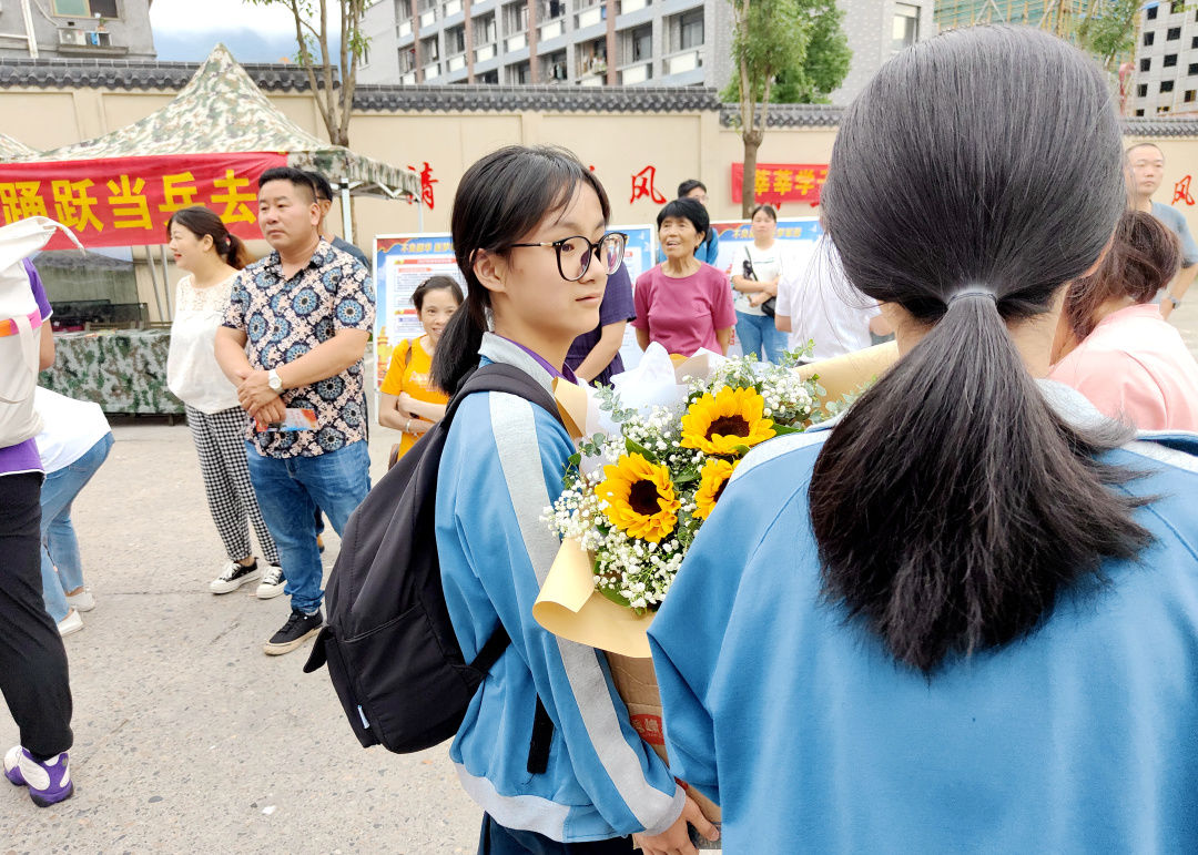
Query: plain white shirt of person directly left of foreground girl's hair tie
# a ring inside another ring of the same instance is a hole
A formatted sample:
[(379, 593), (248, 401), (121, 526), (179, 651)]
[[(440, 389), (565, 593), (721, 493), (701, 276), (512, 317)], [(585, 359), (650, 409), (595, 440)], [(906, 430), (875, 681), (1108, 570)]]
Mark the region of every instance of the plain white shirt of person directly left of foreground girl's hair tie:
[(794, 263), (783, 267), (778, 284), (774, 322), (791, 334), (789, 350), (813, 340), (806, 362), (818, 362), (869, 347), (871, 327), (887, 334), (878, 304), (848, 281), (833, 242), (823, 236), (807, 247), (795, 250)]

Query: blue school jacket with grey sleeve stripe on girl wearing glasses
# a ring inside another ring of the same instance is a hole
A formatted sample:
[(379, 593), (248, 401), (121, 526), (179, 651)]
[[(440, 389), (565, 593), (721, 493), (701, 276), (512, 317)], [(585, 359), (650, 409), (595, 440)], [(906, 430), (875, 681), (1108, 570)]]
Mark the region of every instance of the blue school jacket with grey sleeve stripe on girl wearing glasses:
[[(480, 353), (550, 388), (549, 372), (512, 342), (488, 334)], [(661, 833), (685, 796), (629, 723), (606, 659), (532, 617), (558, 548), (540, 517), (562, 491), (571, 454), (561, 423), (513, 395), (477, 393), (454, 417), (436, 508), (446, 605), (466, 661), (497, 621), (512, 644), (471, 702), (449, 754), (466, 792), (507, 827), (563, 842)], [(538, 695), (553, 739), (547, 771), (530, 775)]]

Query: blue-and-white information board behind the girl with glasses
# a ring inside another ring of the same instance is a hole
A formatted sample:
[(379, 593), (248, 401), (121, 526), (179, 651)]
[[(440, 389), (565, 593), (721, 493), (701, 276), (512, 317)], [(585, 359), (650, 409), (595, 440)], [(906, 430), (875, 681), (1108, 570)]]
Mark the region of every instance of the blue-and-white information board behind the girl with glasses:
[[(611, 231), (628, 235), (624, 265), (633, 281), (653, 265), (657, 253), (657, 229), (651, 225), (613, 225)], [(412, 304), (412, 292), (431, 275), (452, 277), (466, 291), (466, 283), (453, 254), (450, 236), (379, 235), (375, 237), (375, 359), (376, 388), (391, 365), (391, 354), (399, 342), (420, 335), (424, 329)], [(629, 327), (621, 353), (640, 358), (636, 332)]]

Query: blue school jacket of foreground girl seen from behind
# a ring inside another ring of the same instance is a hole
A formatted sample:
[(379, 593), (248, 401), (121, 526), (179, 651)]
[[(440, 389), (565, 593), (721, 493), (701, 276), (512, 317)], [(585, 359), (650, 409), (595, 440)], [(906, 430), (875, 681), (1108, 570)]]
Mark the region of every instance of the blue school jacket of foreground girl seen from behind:
[(931, 679), (821, 601), (827, 436), (746, 456), (649, 630), (672, 769), (722, 806), (724, 850), (1198, 851), (1198, 435), (1109, 454), (1158, 497), (1138, 562)]

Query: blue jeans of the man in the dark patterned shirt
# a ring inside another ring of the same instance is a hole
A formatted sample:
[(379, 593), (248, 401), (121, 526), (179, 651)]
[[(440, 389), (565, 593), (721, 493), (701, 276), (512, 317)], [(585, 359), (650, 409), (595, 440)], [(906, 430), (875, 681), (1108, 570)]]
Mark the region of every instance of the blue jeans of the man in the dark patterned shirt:
[(316, 548), (316, 508), (333, 530), (345, 529), (353, 509), (370, 491), (370, 451), (364, 442), (315, 457), (268, 457), (246, 443), (249, 480), (258, 507), (279, 550), (291, 608), (314, 614), (323, 596), (323, 566)]

